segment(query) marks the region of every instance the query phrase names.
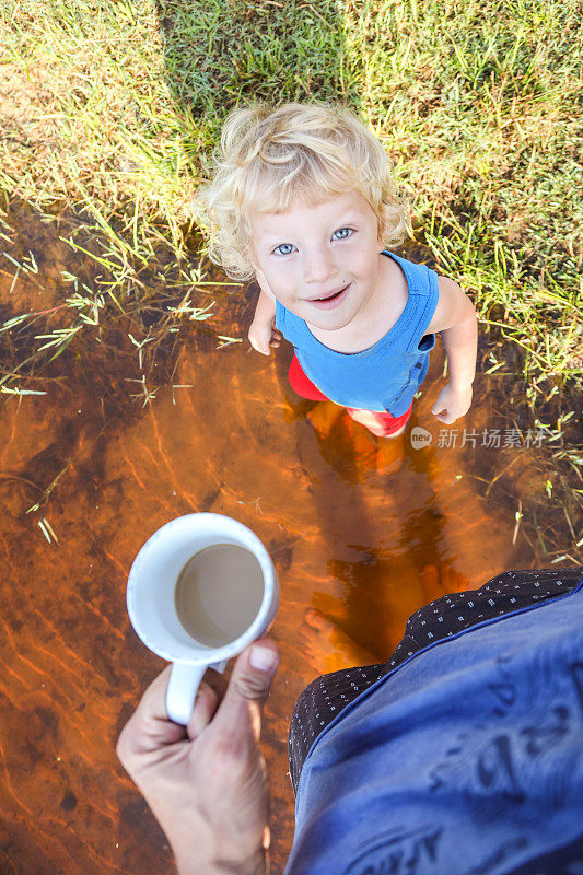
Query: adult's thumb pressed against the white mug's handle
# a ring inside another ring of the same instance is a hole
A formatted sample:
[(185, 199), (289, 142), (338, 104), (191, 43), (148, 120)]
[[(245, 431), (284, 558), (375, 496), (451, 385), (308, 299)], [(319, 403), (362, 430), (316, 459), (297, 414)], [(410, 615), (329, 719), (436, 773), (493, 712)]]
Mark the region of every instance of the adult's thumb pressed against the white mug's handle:
[(273, 641), (261, 639), (243, 651), (235, 663), (223, 701), (214, 716), (217, 728), (241, 726), (250, 721), (259, 737), (260, 710), (269, 695), (279, 664)]

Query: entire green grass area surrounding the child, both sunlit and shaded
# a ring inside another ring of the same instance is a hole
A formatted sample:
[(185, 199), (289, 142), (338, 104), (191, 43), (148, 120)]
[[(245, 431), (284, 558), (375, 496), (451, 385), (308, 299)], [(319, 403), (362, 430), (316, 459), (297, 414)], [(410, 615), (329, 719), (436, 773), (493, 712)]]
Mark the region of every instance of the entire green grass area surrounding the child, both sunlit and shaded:
[(151, 363), (208, 304), (190, 205), (226, 110), (334, 98), (377, 132), (416, 241), (501, 340), (489, 370), (518, 374), (513, 404), (581, 476), (563, 440), (582, 372), (579, 3), (4, 0), (0, 26), (0, 185), (46, 222), (68, 217), (61, 233), (96, 268), (84, 289), (68, 278), (58, 324), (8, 326), (34, 349), (4, 368), (4, 392), (121, 311)]

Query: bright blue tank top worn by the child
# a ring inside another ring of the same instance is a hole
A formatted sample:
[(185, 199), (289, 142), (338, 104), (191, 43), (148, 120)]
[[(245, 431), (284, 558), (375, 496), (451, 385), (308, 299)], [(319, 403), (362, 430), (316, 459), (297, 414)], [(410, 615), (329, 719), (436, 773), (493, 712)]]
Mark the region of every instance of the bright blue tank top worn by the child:
[(435, 335), (427, 335), (438, 304), (438, 275), (393, 253), (408, 287), (405, 310), (377, 342), (362, 352), (337, 352), (320, 343), (306, 323), (276, 303), (276, 327), (293, 343), (304, 373), (343, 407), (405, 413), (425, 378)]

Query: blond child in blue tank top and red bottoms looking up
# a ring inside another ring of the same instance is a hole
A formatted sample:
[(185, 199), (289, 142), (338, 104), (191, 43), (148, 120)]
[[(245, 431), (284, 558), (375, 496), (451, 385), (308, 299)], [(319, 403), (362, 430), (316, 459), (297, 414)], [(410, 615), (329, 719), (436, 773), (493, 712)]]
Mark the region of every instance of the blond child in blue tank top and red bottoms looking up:
[(439, 331), (450, 382), (432, 412), (446, 424), (463, 417), (474, 306), (453, 280), (387, 250), (403, 241), (405, 208), (369, 129), (329, 105), (254, 106), (230, 114), (221, 144), (200, 197), (210, 257), (260, 287), (252, 346), (269, 355), (285, 337), (299, 395), (330, 399), (373, 434), (395, 438)]

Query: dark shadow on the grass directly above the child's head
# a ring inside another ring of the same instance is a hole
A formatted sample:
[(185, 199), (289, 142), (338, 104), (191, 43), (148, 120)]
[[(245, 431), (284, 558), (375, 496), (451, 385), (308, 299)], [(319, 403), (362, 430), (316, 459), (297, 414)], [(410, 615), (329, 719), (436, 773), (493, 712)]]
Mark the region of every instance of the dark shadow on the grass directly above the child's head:
[(210, 136), (240, 101), (357, 101), (343, 19), (330, 0), (156, 0), (156, 8), (171, 93)]

